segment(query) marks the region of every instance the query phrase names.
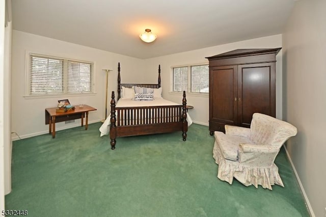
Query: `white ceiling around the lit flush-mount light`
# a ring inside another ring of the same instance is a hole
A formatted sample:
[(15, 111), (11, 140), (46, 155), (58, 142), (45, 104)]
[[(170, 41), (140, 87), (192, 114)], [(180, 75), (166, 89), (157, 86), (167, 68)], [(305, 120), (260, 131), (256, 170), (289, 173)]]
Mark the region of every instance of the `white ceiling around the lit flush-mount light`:
[[(282, 33), (293, 0), (12, 0), (13, 29), (147, 59)], [(156, 41), (139, 35), (151, 29)]]

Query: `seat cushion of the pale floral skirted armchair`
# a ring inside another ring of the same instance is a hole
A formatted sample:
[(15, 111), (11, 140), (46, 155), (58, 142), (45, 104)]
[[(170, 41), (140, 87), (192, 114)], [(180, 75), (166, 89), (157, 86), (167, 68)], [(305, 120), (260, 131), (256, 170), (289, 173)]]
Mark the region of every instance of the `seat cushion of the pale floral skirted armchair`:
[(240, 143), (253, 142), (246, 137), (239, 137), (237, 135), (226, 135), (223, 132), (215, 131), (215, 140), (218, 142), (224, 158), (229, 160), (237, 160), (238, 147)]

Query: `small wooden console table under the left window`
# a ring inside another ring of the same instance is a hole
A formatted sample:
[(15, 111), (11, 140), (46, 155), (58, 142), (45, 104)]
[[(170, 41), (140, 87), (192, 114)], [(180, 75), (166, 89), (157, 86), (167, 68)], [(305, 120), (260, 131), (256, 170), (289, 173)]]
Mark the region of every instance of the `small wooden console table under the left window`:
[(64, 113), (59, 113), (56, 112), (57, 108), (58, 107), (45, 108), (45, 124), (49, 125), (49, 134), (52, 134), (52, 138), (56, 137), (57, 122), (69, 121), (69, 120), (81, 118), (82, 126), (84, 126), (84, 117), (85, 117), (86, 118), (85, 129), (87, 130), (88, 112), (96, 110), (96, 108), (89, 105), (83, 105), (82, 107), (76, 105), (74, 110), (70, 110)]

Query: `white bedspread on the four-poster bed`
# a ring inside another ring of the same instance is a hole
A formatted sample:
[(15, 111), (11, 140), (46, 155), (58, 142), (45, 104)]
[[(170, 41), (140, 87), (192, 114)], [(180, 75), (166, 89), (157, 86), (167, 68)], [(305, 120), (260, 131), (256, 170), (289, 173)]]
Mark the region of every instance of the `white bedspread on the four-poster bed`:
[[(178, 103), (171, 102), (169, 100), (163, 99), (163, 98), (154, 98), (152, 101), (134, 101), (129, 98), (122, 98), (119, 99), (119, 101), (116, 104), (116, 107), (137, 107), (137, 106), (159, 106), (159, 105), (179, 105)], [(110, 112), (109, 112), (110, 114)], [(101, 137), (103, 135), (107, 135), (110, 131), (110, 115), (106, 118), (104, 123), (100, 127)], [(193, 123), (193, 120), (187, 113), (187, 122), (188, 126), (190, 126)]]

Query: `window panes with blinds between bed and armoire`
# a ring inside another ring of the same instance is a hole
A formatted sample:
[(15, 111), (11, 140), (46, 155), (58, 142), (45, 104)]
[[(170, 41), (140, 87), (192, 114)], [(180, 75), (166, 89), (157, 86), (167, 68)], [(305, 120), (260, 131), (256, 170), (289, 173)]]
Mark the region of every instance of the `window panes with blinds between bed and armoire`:
[(172, 91), (208, 93), (208, 65), (173, 68)]

